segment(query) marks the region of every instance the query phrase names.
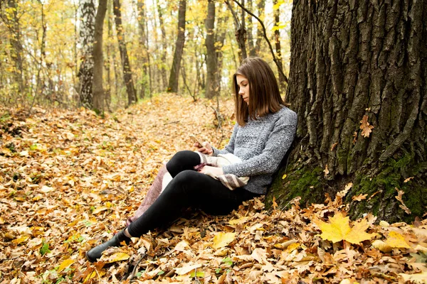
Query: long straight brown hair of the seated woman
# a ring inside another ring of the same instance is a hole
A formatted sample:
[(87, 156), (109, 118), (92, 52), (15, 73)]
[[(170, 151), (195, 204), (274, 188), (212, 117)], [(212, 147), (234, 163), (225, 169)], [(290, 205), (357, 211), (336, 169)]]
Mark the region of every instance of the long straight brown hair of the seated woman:
[[(238, 94), (236, 75), (242, 75), (249, 82), (249, 104)], [(235, 94), (236, 120), (240, 126), (244, 126), (248, 117), (256, 119), (257, 116), (265, 116), (279, 111), (284, 105), (278, 81), (273, 70), (267, 62), (261, 58), (246, 58), (233, 75), (233, 93)]]

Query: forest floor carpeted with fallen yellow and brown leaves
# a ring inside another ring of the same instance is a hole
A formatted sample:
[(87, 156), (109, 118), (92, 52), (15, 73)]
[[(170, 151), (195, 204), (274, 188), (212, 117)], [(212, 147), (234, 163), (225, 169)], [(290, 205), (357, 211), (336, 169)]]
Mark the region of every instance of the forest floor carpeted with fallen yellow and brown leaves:
[(162, 163), (191, 149), (189, 134), (225, 145), (233, 100), (219, 104), (222, 130), (215, 102), (172, 94), (103, 118), (0, 109), (0, 283), (117, 283), (127, 271), (125, 283), (427, 283), (427, 220), (349, 222), (345, 189), (283, 212), (258, 199), (224, 217), (186, 212), (87, 261), (125, 226)]

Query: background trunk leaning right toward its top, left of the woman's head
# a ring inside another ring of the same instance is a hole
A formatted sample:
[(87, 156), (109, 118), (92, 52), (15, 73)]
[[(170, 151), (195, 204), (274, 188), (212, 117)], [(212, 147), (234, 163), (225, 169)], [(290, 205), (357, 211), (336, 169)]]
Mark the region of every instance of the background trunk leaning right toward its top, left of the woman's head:
[(181, 68), (182, 50), (184, 50), (185, 42), (185, 12), (186, 0), (179, 0), (178, 32), (176, 36), (174, 60), (169, 77), (169, 87), (167, 88), (168, 92), (178, 92), (179, 69)]

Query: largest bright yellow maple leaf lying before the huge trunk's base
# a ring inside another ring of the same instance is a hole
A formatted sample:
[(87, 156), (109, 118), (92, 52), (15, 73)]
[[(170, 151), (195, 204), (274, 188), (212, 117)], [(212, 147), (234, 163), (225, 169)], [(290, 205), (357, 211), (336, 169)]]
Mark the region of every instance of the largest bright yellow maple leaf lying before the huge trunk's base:
[(342, 212), (338, 212), (334, 217), (330, 217), (330, 223), (321, 220), (315, 224), (322, 230), (320, 237), (336, 243), (337, 241), (348, 241), (351, 244), (359, 244), (362, 241), (371, 239), (375, 234), (365, 232), (369, 224), (366, 219), (356, 222), (353, 228), (350, 227), (349, 217), (344, 217)]

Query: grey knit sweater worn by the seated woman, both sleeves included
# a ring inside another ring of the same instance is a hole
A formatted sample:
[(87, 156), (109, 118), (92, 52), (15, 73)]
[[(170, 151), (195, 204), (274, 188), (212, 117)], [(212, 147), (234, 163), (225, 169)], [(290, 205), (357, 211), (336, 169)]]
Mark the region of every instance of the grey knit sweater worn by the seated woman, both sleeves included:
[(248, 119), (243, 127), (236, 124), (228, 145), (222, 150), (213, 147), (213, 155), (233, 153), (241, 158), (241, 163), (224, 166), (224, 174), (250, 177), (244, 188), (265, 195), (273, 173), (295, 137), (296, 128), (297, 114), (283, 107), (275, 114)]

